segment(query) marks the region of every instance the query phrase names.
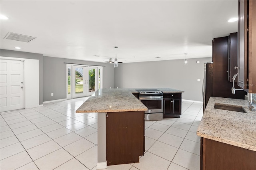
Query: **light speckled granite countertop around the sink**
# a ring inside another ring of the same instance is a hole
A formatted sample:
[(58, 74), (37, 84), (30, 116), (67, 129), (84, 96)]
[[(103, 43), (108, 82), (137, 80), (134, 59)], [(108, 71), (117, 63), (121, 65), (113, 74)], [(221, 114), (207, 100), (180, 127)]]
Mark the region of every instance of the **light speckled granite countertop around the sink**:
[[(256, 151), (256, 110), (246, 100), (210, 97), (198, 126), (198, 136)], [(242, 106), (247, 113), (214, 109), (214, 104)]]

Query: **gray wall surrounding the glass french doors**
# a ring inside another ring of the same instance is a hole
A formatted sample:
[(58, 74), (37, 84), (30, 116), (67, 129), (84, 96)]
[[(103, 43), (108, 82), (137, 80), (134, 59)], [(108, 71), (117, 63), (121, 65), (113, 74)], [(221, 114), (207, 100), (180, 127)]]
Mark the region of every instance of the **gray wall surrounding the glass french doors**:
[[(92, 61), (81, 61), (44, 56), (43, 60), (43, 101), (66, 98), (66, 63), (105, 65), (103, 67), (103, 88), (114, 87), (114, 65)], [(54, 96), (51, 96), (54, 93)]]

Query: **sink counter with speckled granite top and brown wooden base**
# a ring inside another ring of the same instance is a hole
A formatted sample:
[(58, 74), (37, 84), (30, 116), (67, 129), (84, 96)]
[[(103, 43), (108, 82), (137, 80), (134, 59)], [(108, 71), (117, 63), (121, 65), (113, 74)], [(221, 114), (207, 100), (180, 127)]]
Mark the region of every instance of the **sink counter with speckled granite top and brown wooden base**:
[[(201, 170), (256, 169), (256, 111), (249, 111), (247, 102), (210, 97), (196, 132), (201, 137)], [(247, 113), (223, 110), (228, 107)]]

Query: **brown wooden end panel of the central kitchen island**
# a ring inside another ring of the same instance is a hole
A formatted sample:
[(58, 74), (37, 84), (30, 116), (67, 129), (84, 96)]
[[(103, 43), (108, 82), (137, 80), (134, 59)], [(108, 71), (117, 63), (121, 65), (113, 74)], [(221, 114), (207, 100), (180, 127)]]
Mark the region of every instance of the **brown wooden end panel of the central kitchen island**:
[(144, 113), (107, 113), (107, 165), (139, 162), (139, 156), (144, 154)]

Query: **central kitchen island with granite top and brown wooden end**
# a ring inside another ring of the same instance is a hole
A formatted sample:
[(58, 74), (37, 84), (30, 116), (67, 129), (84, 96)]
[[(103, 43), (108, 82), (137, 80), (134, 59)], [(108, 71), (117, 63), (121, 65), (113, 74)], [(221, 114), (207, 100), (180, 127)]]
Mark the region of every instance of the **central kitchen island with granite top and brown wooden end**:
[[(163, 93), (182, 93), (170, 88), (155, 88)], [(135, 89), (99, 89), (76, 113), (98, 113), (97, 169), (107, 165), (139, 162), (144, 154), (144, 106)]]

